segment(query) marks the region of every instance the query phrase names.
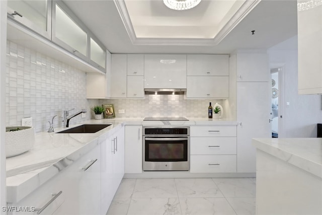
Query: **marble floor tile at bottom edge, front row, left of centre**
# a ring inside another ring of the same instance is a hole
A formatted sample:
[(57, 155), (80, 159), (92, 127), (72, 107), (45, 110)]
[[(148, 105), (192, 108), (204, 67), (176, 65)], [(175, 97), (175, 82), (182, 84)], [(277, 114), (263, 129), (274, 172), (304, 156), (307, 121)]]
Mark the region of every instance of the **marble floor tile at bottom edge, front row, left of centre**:
[(132, 198), (128, 215), (181, 215), (178, 198)]

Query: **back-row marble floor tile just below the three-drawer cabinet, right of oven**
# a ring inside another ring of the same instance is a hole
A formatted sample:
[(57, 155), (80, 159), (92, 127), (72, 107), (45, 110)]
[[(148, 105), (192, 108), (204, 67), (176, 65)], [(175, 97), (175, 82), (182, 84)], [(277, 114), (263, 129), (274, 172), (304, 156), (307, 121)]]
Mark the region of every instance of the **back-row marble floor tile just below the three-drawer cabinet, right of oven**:
[(176, 178), (179, 197), (223, 197), (211, 178)]

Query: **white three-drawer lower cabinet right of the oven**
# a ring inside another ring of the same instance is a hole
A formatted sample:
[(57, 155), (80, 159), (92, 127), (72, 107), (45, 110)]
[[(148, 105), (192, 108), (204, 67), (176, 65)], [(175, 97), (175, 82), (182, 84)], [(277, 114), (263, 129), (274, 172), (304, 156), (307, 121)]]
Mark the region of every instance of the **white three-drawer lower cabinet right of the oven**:
[(235, 173), (236, 125), (190, 126), (190, 172)]

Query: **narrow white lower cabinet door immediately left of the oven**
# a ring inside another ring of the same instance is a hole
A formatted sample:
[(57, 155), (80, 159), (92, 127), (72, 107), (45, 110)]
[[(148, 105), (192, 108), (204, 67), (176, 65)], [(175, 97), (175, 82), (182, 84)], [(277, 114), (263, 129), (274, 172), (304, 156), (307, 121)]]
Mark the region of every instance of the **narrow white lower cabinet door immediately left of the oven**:
[(125, 173), (142, 173), (142, 125), (125, 126)]

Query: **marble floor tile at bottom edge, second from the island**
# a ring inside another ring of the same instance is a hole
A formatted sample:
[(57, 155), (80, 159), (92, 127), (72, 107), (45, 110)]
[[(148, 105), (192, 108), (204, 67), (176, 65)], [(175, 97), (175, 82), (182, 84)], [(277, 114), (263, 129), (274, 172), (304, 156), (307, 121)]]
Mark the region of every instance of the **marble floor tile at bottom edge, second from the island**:
[(235, 215), (225, 198), (179, 198), (183, 215)]

